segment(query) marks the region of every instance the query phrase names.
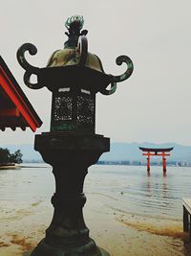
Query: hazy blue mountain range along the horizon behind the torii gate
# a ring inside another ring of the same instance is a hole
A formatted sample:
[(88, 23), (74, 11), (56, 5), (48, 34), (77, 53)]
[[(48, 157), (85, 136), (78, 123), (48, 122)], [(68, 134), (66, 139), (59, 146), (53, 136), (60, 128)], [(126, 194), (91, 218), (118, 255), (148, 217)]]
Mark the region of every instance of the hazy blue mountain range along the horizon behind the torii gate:
[[(109, 161), (141, 161), (145, 160), (142, 152), (138, 147), (145, 148), (169, 148), (174, 147), (171, 156), (168, 158), (172, 161), (191, 162), (191, 146), (183, 146), (175, 143), (154, 144), (154, 143), (112, 143), (111, 151), (101, 155), (100, 160)], [(39, 152), (33, 150), (32, 145), (2, 145), (1, 148), (8, 148), (11, 152), (20, 150), (23, 153), (24, 161), (41, 161), (42, 157)], [(154, 158), (153, 158), (154, 159)], [(155, 158), (160, 160), (159, 157)]]

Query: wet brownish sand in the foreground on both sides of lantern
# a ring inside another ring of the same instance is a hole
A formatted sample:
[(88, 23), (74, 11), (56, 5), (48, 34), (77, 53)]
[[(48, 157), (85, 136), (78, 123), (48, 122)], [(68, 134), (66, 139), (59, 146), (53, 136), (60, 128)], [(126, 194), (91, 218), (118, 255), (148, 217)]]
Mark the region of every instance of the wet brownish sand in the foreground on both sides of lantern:
[[(44, 237), (53, 216), (53, 207), (34, 201), (30, 208), (14, 212), (0, 223), (0, 255), (20, 256), (29, 252)], [(159, 221), (141, 215), (110, 209), (107, 200), (88, 195), (84, 209), (86, 224), (96, 244), (111, 256), (191, 255), (183, 245), (187, 234), (181, 221)], [(27, 255), (27, 254), (25, 254)]]

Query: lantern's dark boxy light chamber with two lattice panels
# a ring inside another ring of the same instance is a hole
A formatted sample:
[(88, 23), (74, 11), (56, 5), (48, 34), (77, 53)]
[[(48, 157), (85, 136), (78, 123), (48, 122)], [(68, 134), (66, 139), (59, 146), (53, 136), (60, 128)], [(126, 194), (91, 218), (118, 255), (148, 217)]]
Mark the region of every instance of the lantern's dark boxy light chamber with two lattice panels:
[(70, 87), (53, 92), (51, 130), (95, 132), (96, 97)]

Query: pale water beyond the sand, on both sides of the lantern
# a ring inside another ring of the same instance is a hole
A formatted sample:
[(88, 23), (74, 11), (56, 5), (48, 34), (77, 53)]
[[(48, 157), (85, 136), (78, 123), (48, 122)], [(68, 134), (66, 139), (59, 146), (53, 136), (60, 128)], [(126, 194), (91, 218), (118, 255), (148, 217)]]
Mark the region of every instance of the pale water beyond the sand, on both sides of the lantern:
[[(191, 168), (93, 166), (85, 181), (85, 193), (107, 198), (107, 206), (121, 212), (181, 220), (181, 198), (191, 198)], [(0, 208), (20, 211), (32, 203), (50, 201), (54, 192), (52, 168), (0, 171)], [(10, 215), (9, 215), (10, 216)], [(10, 216), (11, 217), (11, 216)]]

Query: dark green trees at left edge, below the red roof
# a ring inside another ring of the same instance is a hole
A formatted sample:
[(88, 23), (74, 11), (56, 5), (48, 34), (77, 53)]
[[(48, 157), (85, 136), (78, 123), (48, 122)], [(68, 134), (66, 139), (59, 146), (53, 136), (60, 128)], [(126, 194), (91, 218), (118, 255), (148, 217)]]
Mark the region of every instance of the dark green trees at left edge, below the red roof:
[(22, 160), (23, 154), (20, 150), (11, 153), (8, 149), (0, 148), (0, 165), (5, 164), (20, 164), (23, 162)]

